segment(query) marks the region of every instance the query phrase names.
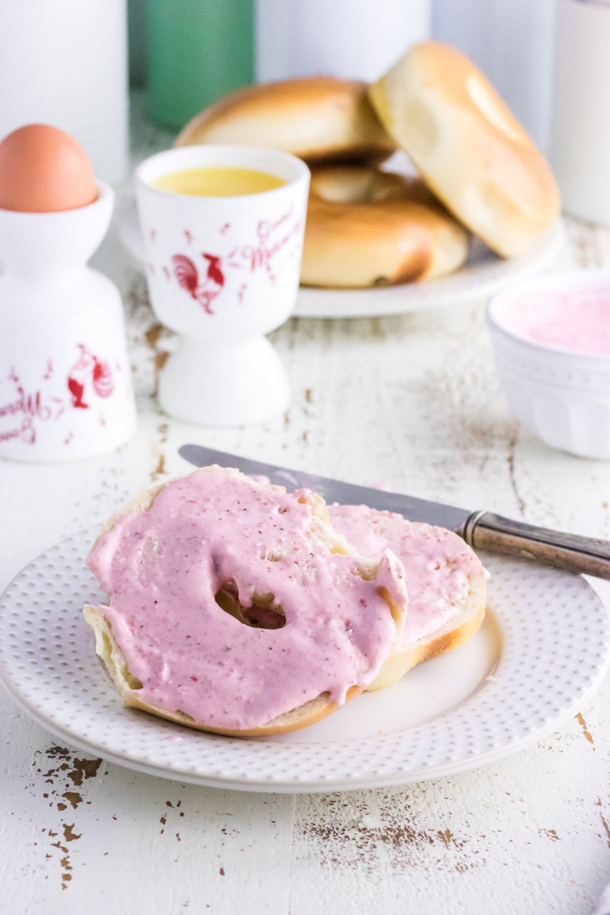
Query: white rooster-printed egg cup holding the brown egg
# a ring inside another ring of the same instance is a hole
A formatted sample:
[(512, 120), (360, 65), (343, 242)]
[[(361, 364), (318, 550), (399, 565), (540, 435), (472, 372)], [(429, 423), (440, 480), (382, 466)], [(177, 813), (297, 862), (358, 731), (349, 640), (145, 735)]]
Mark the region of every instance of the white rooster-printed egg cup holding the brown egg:
[(1, 458), (91, 458), (135, 431), (121, 296), (86, 266), (112, 217), (97, 187), (78, 210), (0, 210)]

